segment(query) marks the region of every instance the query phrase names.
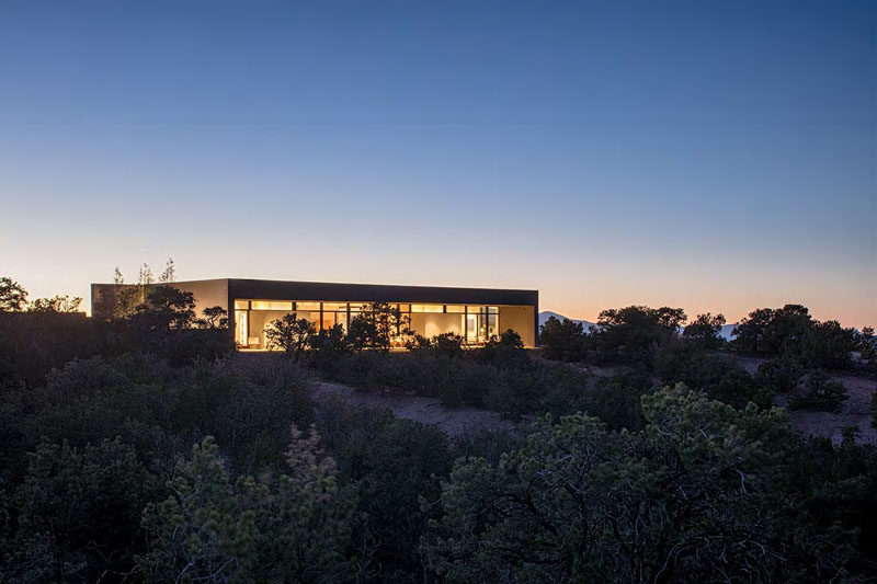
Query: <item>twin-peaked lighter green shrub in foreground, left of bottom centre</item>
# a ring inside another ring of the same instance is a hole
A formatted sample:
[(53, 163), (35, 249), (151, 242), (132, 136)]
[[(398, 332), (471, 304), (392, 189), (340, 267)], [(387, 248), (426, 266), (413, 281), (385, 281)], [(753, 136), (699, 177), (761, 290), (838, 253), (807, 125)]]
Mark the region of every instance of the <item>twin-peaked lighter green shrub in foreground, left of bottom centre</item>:
[(143, 514), (155, 582), (317, 582), (349, 575), (351, 504), (315, 433), (294, 433), (288, 473), (232, 481), (212, 437), (178, 465)]

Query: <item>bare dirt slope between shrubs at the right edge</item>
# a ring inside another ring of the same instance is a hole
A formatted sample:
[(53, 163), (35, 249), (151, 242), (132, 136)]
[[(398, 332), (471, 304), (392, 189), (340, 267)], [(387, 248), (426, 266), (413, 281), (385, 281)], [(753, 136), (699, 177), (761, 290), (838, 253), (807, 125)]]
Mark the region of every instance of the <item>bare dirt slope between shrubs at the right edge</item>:
[[(754, 374), (765, 359), (758, 357), (733, 358), (747, 371)], [(831, 438), (835, 444), (841, 442), (841, 432), (845, 426), (856, 426), (859, 431), (858, 442), (877, 446), (877, 427), (872, 425), (870, 396), (877, 391), (877, 381), (852, 375), (832, 375), (831, 378), (843, 383), (850, 399), (836, 414), (829, 412), (806, 412), (789, 410), (791, 426), (805, 436), (822, 436)], [(777, 396), (776, 405), (785, 408), (787, 396)]]

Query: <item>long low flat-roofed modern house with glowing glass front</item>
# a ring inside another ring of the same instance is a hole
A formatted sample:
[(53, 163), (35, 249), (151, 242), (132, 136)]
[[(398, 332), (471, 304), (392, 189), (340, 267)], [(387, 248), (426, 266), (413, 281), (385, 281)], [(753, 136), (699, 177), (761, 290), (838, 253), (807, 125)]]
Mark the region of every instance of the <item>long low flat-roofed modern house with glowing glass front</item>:
[[(191, 291), (198, 313), (220, 306), (228, 311), (229, 334), (240, 348), (265, 348), (265, 327), (286, 313), (310, 320), (317, 330), (335, 324), (348, 328), (363, 305), (388, 302), (410, 321), (413, 333), (432, 337), (442, 333), (463, 336), (468, 345), (487, 342), (509, 329), (526, 346), (536, 344), (538, 290), (327, 284), (269, 279), (202, 279), (174, 282)], [(107, 295), (125, 285), (92, 284), (92, 314), (100, 314)]]

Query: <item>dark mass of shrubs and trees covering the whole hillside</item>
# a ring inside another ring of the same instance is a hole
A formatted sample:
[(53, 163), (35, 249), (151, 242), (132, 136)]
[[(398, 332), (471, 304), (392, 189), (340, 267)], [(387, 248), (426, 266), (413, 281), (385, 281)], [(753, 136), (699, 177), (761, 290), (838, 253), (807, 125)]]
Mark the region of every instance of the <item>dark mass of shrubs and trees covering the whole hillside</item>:
[[(172, 290), (147, 284), (110, 320), (0, 316), (0, 581), (877, 574), (877, 449), (852, 432), (805, 439), (763, 398), (798, 387), (797, 355), (744, 377), (713, 335), (679, 332), (681, 311), (622, 309), (606, 320), (620, 329), (584, 341), (619, 365), (596, 378), (512, 333), (391, 352), (379, 307), (355, 336), (236, 354), (206, 342), (229, 337), (224, 316)], [(449, 440), (387, 411), (317, 406), (317, 375), (535, 422)]]

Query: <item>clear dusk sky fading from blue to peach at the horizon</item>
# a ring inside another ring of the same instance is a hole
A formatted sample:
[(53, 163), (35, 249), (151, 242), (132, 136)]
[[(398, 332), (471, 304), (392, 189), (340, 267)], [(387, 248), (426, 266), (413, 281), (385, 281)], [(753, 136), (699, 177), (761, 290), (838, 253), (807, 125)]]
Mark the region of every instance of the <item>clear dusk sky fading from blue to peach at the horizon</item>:
[(0, 0), (0, 275), (877, 324), (877, 2)]

